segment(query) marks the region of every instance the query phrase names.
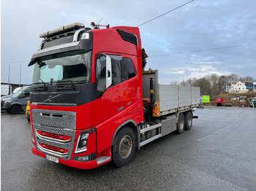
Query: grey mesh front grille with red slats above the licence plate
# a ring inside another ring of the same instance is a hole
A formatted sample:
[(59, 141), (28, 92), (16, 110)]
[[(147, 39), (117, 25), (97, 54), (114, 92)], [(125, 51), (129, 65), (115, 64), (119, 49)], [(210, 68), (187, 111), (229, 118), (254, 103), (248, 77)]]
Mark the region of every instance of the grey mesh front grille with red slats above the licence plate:
[(75, 141), (75, 112), (32, 110), (37, 149), (70, 160)]

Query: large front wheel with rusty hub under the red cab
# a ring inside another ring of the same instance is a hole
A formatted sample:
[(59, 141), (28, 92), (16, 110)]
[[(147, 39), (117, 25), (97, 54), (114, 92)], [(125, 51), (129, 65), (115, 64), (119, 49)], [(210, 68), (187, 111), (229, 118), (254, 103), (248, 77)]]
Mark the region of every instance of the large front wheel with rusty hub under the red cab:
[(113, 161), (118, 166), (127, 165), (135, 155), (135, 133), (131, 128), (122, 128), (113, 144)]

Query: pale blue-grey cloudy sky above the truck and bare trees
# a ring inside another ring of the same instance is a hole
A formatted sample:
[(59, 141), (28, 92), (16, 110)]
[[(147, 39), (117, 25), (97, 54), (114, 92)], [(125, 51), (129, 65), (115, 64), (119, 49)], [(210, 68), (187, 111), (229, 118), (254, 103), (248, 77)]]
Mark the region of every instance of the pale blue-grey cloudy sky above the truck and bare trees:
[[(45, 31), (101, 19), (139, 26), (188, 1), (1, 0), (1, 82), (10, 66), (10, 83), (19, 83), (21, 66), (21, 83), (31, 83), (28, 63)], [(256, 1), (195, 0), (139, 28), (146, 69), (159, 70), (159, 83), (212, 73), (256, 79)]]

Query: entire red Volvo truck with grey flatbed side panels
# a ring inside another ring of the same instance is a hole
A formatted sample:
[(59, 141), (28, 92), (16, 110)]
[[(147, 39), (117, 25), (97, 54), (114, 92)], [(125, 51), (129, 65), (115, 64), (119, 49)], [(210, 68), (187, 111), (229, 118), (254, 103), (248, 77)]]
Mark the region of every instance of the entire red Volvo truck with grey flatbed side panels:
[(170, 132), (192, 127), (199, 87), (158, 84), (143, 71), (137, 27), (73, 23), (41, 34), (30, 94), (31, 151), (74, 168), (121, 167)]

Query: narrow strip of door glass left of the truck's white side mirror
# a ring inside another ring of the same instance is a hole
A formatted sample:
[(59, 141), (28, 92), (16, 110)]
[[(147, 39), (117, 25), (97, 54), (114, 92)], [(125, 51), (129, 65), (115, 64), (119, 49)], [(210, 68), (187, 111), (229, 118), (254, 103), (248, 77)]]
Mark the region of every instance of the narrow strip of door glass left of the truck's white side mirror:
[(106, 57), (101, 55), (96, 61), (96, 85), (97, 91), (103, 92), (106, 89)]

